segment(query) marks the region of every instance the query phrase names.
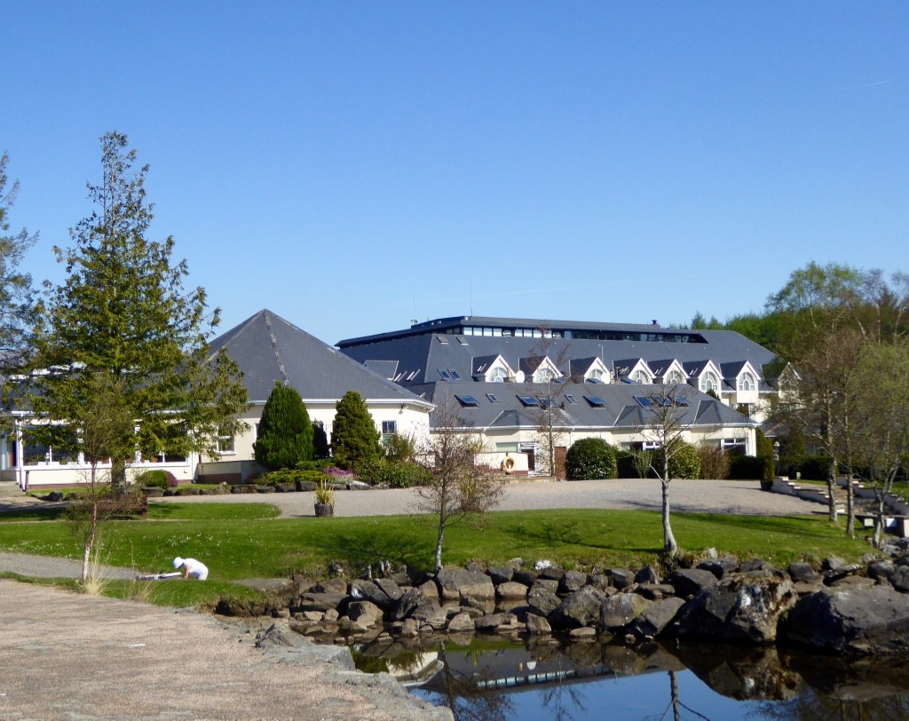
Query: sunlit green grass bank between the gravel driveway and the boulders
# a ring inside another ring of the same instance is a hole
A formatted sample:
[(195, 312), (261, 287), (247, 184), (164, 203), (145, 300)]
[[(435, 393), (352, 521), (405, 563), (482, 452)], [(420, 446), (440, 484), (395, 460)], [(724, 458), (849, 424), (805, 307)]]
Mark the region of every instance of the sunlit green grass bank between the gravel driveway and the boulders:
[[(276, 518), (272, 506), (166, 504), (147, 520), (104, 526), (105, 563), (146, 571), (170, 569), (175, 556), (202, 559), (212, 582), (324, 573), (330, 561), (353, 572), (379, 561), (415, 568), (433, 563), (433, 516)], [(785, 566), (800, 558), (867, 551), (821, 516), (677, 514), (676, 538), (699, 553), (714, 546), (740, 558), (760, 556)], [(453, 526), (445, 535), (446, 564), (504, 564), (514, 556), (545, 558), (566, 567), (643, 566), (659, 556), (660, 516), (648, 511), (551, 510), (496, 512)], [(72, 527), (54, 514), (0, 516), (0, 549), (79, 558)]]

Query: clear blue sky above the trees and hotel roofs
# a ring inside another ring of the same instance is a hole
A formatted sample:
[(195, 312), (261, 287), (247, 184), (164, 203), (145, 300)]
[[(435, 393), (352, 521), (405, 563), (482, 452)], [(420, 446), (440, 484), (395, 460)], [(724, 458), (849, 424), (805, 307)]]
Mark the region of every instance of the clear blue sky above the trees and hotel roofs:
[(760, 310), (809, 260), (909, 271), (909, 4), (0, 0), (11, 220), (151, 165), (225, 330)]

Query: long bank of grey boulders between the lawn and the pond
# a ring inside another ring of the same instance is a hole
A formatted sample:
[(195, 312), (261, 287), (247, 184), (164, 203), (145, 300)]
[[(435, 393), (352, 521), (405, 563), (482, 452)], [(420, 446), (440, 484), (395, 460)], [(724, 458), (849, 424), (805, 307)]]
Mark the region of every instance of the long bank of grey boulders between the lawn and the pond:
[[(286, 582), (274, 602), (224, 614), (284, 616), (305, 636), (335, 643), (443, 634), (561, 634), (636, 645), (660, 637), (774, 643), (845, 654), (909, 652), (909, 541), (861, 564), (776, 568), (708, 554), (690, 567), (564, 570), (515, 559), (508, 566), (445, 567), (411, 578), (333, 577)], [(340, 569), (337, 569), (340, 571)]]

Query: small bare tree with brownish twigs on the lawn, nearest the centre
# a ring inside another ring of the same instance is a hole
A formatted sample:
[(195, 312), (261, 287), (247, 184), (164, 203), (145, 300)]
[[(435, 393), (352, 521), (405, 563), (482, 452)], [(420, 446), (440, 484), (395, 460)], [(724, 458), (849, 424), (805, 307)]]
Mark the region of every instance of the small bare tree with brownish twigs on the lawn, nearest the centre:
[(504, 491), (499, 476), (476, 466), (475, 456), (482, 450), (482, 442), (461, 417), (459, 408), (454, 397), (446, 396), (433, 411), (432, 433), (425, 448), (425, 463), (432, 477), (417, 489), (420, 508), (439, 519), (435, 570), (442, 568), (445, 528), (492, 508)]

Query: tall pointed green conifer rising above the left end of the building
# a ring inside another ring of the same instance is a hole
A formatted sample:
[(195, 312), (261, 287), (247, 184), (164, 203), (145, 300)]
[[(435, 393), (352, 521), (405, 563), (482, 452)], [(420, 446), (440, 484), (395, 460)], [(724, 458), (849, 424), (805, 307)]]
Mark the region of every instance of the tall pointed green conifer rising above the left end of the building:
[(244, 427), (246, 392), (227, 355), (211, 358), (206, 341), (220, 314), (202, 288), (185, 291), (189, 271), (172, 262), (173, 238), (146, 238), (147, 166), (133, 167), (125, 135), (101, 141), (104, 180), (89, 185), (95, 211), (71, 230), (72, 247), (55, 248), (65, 281), (49, 290), (35, 325), (34, 367), (65, 370), (35, 376), (27, 401), (60, 423), (74, 454), (86, 450), (79, 438), (98, 416), (95, 450), (110, 449), (121, 486), (136, 447), (146, 457), (216, 456), (217, 438)]

